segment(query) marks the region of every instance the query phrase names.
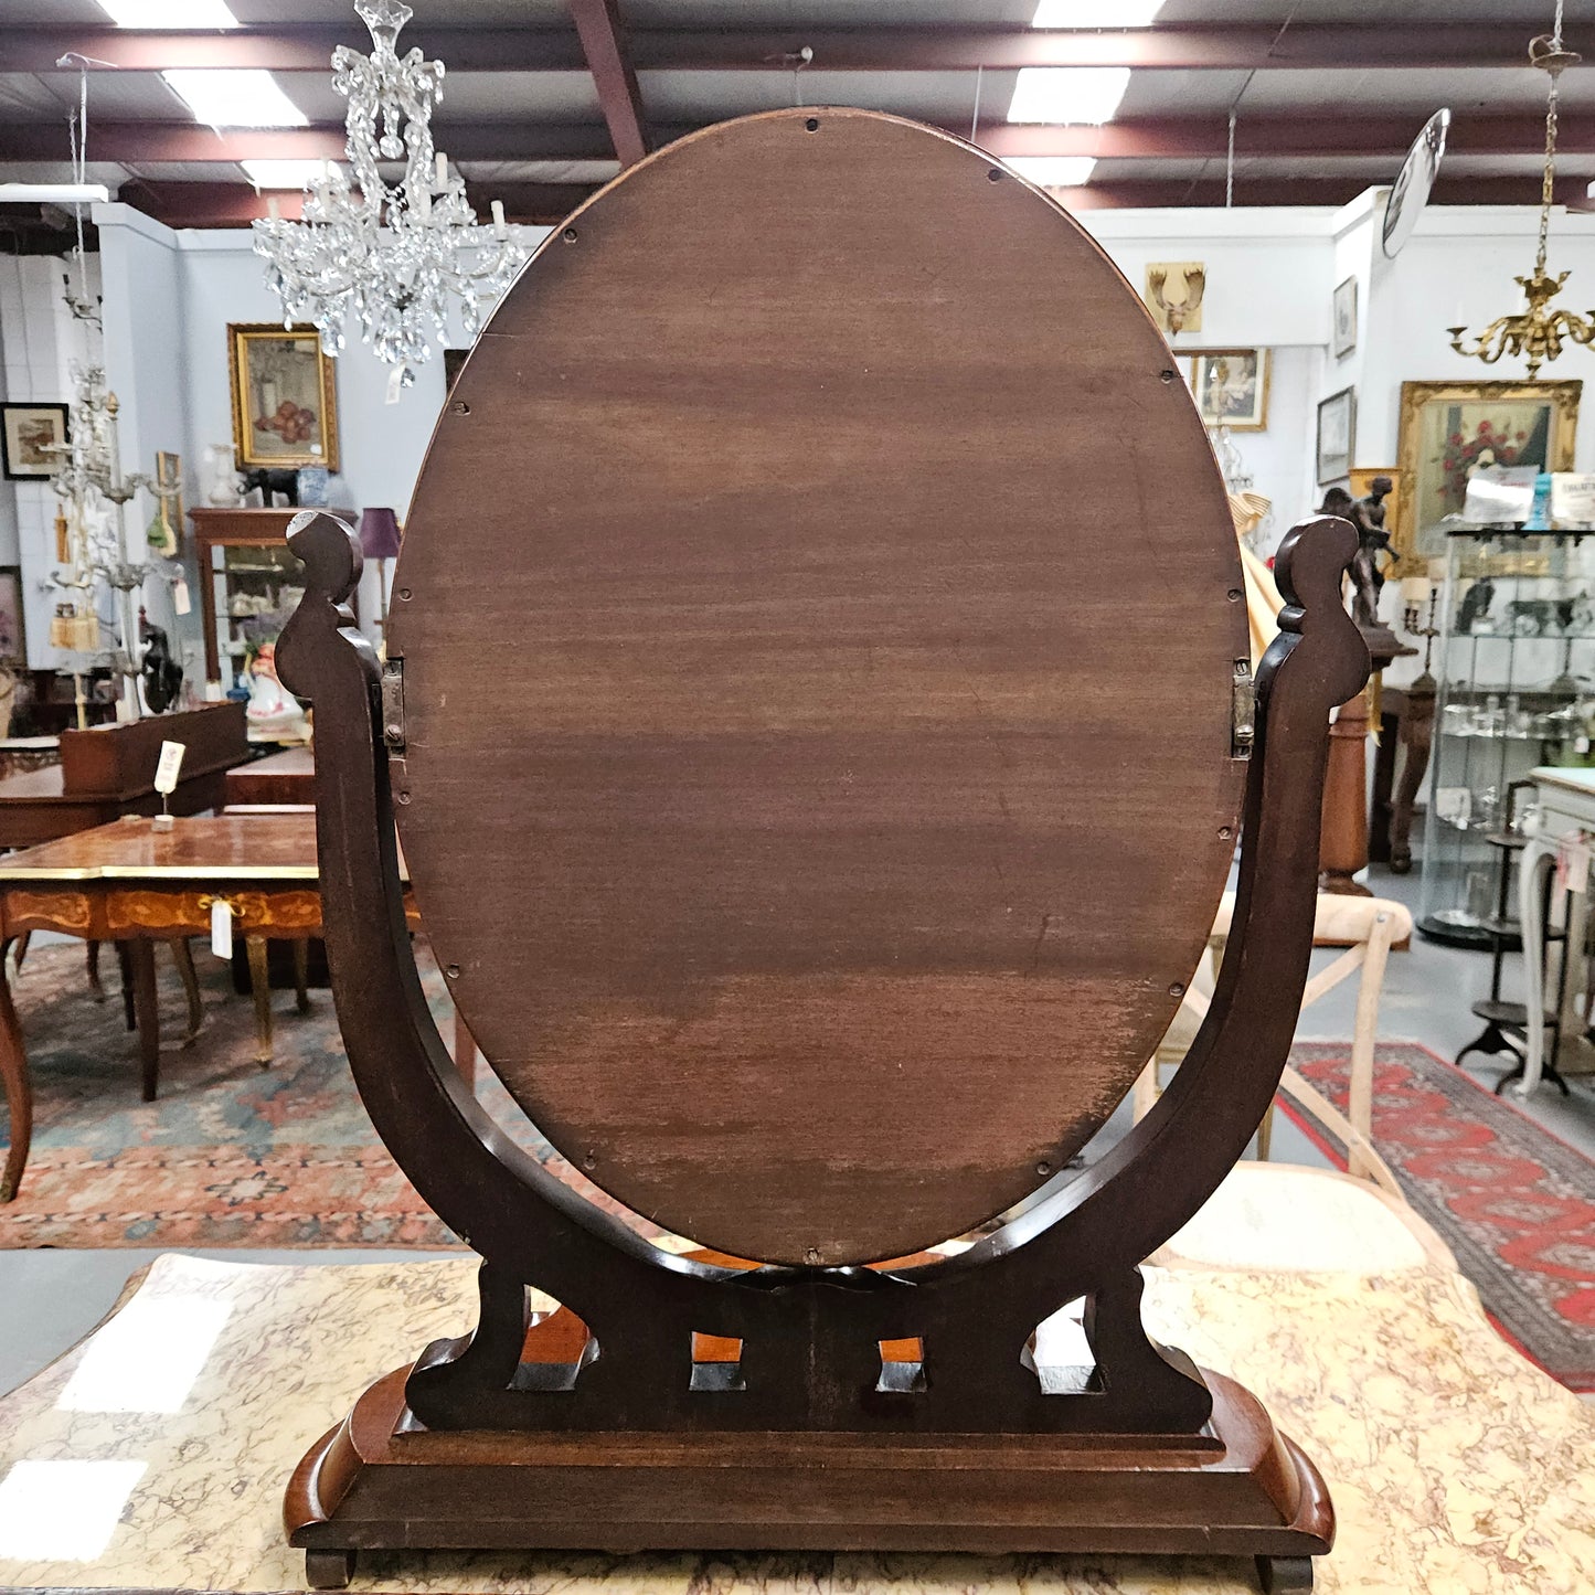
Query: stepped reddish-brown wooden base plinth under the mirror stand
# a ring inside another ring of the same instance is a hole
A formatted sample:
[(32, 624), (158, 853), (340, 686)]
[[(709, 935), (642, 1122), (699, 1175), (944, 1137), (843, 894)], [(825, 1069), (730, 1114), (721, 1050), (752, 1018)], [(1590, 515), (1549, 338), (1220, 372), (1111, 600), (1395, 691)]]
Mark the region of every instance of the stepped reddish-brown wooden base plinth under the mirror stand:
[(1317, 1469), (1212, 1373), (1209, 1432), (1150, 1440), (442, 1434), (413, 1429), (407, 1373), (289, 1483), (313, 1587), (346, 1584), (359, 1550), (689, 1549), (1255, 1555), (1265, 1589), (1303, 1590), (1335, 1534)]

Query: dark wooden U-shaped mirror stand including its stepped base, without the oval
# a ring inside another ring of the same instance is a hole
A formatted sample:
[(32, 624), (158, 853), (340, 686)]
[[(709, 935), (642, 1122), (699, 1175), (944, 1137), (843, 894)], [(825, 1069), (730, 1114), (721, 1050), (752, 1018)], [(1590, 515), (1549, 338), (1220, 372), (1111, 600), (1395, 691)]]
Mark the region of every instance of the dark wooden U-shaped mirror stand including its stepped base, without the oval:
[[(316, 703), (349, 1062), (388, 1148), (483, 1258), (477, 1329), (378, 1381), (295, 1472), (286, 1525), (311, 1582), (346, 1582), (367, 1547), (912, 1547), (1250, 1554), (1265, 1587), (1308, 1589), (1333, 1538), (1321, 1477), (1252, 1396), (1148, 1338), (1139, 1263), (1244, 1153), (1286, 1062), (1325, 726), (1369, 668), (1340, 605), (1353, 530), (1306, 522), (1279, 550), (1287, 605), (1257, 675), (1235, 931), (1171, 1089), (1024, 1217), (900, 1271), (671, 1255), (493, 1124), (408, 944), (381, 673), (346, 606), (359, 541), (306, 512), (290, 542), (306, 593), (279, 665)], [(587, 1327), (571, 1361), (528, 1357), (528, 1287)], [(1043, 1386), (1030, 1337), (1078, 1297), (1094, 1367)], [(694, 1376), (694, 1333), (740, 1341), (734, 1376)], [(888, 1380), (880, 1343), (903, 1340), (919, 1367)]]

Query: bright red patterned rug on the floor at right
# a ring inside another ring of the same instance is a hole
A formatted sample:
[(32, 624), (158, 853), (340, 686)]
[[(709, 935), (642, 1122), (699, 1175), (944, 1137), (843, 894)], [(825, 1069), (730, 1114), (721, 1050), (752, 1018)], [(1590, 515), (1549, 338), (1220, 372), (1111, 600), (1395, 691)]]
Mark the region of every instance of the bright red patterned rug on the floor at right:
[[(1297, 1042), (1290, 1056), (1345, 1110), (1348, 1046)], [(1595, 1389), (1595, 1163), (1412, 1042), (1378, 1050), (1373, 1144), (1502, 1333), (1563, 1384)]]

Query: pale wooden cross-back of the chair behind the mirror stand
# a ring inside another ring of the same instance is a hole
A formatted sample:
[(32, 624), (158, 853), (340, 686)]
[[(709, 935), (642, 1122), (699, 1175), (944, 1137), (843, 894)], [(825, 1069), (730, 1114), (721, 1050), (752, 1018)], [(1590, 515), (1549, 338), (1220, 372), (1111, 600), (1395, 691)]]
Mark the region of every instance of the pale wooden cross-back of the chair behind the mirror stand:
[[(1207, 1016), (1214, 971), (1223, 959), (1235, 916), (1235, 893), (1227, 892), (1214, 919), (1212, 936), (1203, 954), (1203, 967), (1180, 1002), (1180, 1011), (1152, 1061), (1136, 1081), (1134, 1116), (1140, 1120), (1156, 1101), (1161, 1069), (1179, 1065), (1201, 1022)], [(1346, 1148), (1346, 1169), (1372, 1180), (1397, 1201), (1405, 1203), (1400, 1185), (1389, 1166), (1373, 1148), (1373, 1046), (1380, 1026), (1380, 994), (1384, 986), (1384, 963), (1392, 951), (1412, 944), (1412, 912), (1392, 898), (1357, 898), (1321, 893), (1313, 920), (1314, 947), (1343, 947), (1338, 959), (1313, 975), (1302, 990), (1302, 1011), (1343, 981), (1359, 976), (1357, 1013), (1351, 1034), (1351, 1081), (1346, 1112), (1335, 1107), (1300, 1072), (1287, 1064), (1279, 1089), (1300, 1102)], [(1268, 1160), (1274, 1107), (1257, 1129), (1257, 1156)]]

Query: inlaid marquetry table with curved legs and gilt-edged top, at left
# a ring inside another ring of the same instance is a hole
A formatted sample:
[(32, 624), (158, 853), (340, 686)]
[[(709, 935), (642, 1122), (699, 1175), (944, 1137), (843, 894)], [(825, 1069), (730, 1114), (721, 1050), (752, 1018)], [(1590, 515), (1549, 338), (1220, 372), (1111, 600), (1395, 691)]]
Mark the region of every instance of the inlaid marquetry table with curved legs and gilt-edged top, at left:
[[(0, 858), (0, 949), (30, 930), (86, 941), (126, 943), (145, 1101), (160, 1073), (155, 943), (211, 933), (212, 908), (226, 903), (233, 935), (249, 952), (258, 1056), (271, 1057), (266, 941), (321, 935), (314, 813), (193, 815), (158, 831), (128, 815), (41, 847)], [(303, 1000), (303, 994), (301, 994)], [(11, 1002), (0, 981), (0, 1075), (11, 1110), (11, 1147), (0, 1201), (22, 1179), (32, 1136), (32, 1081)]]

